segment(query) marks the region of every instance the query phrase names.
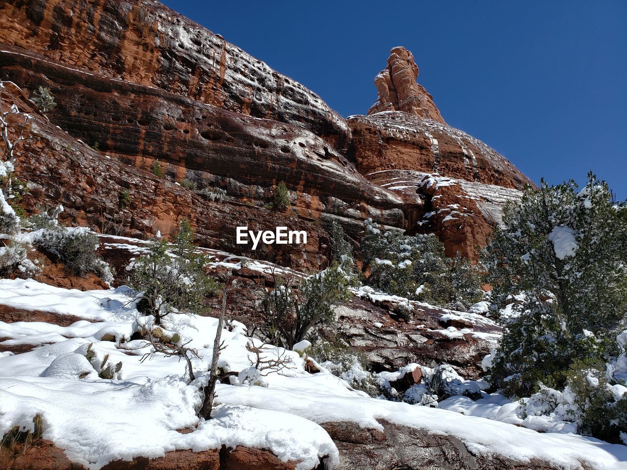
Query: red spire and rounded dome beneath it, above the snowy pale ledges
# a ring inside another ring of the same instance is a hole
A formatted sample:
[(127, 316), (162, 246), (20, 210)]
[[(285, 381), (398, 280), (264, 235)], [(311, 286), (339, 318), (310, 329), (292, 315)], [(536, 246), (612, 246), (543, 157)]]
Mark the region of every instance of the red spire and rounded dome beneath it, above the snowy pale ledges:
[(411, 52), (394, 48), (374, 80), (377, 102), (367, 116), (348, 118), (362, 174), (414, 170), (517, 189), (530, 182), (495, 150), (446, 125), (417, 77)]

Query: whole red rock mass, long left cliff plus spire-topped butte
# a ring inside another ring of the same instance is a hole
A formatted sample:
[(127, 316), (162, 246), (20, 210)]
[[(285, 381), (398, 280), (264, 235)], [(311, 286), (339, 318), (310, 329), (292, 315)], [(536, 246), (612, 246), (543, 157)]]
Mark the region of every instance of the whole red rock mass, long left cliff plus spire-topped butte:
[[(27, 201), (62, 203), (73, 224), (149, 238), (170, 234), (185, 217), (200, 243), (245, 253), (233, 227), (280, 221), (306, 229), (310, 243), (262, 256), (319, 268), (330, 221), (357, 240), (372, 217), (410, 233), (435, 231), (448, 254), (473, 256), (500, 218), (503, 188), (512, 188), (504, 196), (512, 199), (528, 182), (445, 124), (402, 47), (377, 75), (379, 101), (369, 115), (344, 120), (300, 83), (156, 1), (13, 0), (0, 5), (0, 24), (0, 79), (23, 90), (5, 93), (4, 103), (16, 99), (33, 114), (34, 138), (18, 156), (32, 188)], [(50, 122), (28, 100), (38, 86), (57, 102)], [(156, 162), (162, 178), (152, 174)], [(462, 187), (493, 185), (475, 191), (480, 196), (463, 189), (446, 203), (477, 197), (464, 206), (479, 229), (421, 224), (433, 195), (418, 187), (431, 173)], [(401, 180), (411, 182), (394, 183)], [(292, 204), (277, 214), (268, 205), (281, 181)], [(222, 201), (216, 189), (226, 191)], [(132, 212), (117, 207), (124, 191)]]

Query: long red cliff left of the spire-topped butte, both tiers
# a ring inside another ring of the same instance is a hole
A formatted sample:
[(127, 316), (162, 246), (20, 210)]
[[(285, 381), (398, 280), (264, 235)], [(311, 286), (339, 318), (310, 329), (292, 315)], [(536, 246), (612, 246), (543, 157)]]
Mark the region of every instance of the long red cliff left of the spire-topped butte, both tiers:
[[(23, 90), (4, 104), (33, 114), (37, 143), (18, 159), (33, 206), (61, 202), (74, 223), (141, 237), (187, 218), (200, 243), (240, 252), (250, 247), (235, 244), (236, 226), (306, 230), (307, 245), (259, 255), (309, 269), (327, 263), (332, 220), (355, 239), (366, 217), (404, 228), (400, 197), (350, 162), (343, 118), (161, 4), (14, 1), (0, 6), (0, 23), (0, 78)], [(50, 122), (28, 101), (38, 86), (55, 97)], [(275, 211), (282, 181), (291, 204)], [(205, 194), (216, 188), (221, 201)], [(123, 191), (132, 207), (119, 210)]]

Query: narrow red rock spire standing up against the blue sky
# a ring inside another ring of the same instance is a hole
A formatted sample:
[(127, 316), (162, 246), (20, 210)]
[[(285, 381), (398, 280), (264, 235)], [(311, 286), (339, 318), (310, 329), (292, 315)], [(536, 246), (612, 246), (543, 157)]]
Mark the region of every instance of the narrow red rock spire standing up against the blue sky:
[(382, 111), (402, 111), (444, 123), (433, 97), (416, 83), (418, 65), (413, 54), (399, 46), (390, 51), (387, 67), (374, 78), (379, 95), (368, 115)]

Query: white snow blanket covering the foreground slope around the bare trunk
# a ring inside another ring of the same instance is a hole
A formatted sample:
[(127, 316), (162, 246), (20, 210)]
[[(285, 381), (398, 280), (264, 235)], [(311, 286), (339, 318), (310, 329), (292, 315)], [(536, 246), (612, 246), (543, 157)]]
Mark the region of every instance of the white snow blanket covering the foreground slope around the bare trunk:
[[(0, 338), (9, 338), (0, 345), (41, 345), (17, 355), (0, 353), (0, 435), (16, 425), (33, 427), (34, 415), (40, 414), (43, 437), (90, 469), (115, 459), (222, 444), (268, 449), (283, 461), (301, 461), (298, 468), (303, 470), (326, 456), (332, 468), (339, 452), (320, 424), (347, 421), (381, 430), (379, 420), (458, 437), (477, 454), (521, 462), (543, 459), (564, 469), (580, 468), (579, 462), (599, 470), (627, 468), (627, 446), (574, 434), (540, 434), (507, 419), (468, 415), (471, 406), (482, 407), (476, 414), (507, 414), (508, 404), (501, 399), (490, 402), (488, 396), (468, 403), (454, 397), (445, 404), (448, 409), (372, 399), (324, 370), (305, 372), (298, 353), (275, 347), (265, 348), (264, 354), (290, 357), (290, 368), (263, 377), (266, 387), (240, 385), (237, 377), (233, 385), (219, 384), (219, 406), (214, 419), (205, 422), (196, 417), (196, 409), (202, 398), (199, 387), (207, 380), (216, 319), (176, 314), (164, 320), (168, 332), (179, 333), (181, 342), (191, 341), (201, 356), (192, 359), (197, 379), (188, 384), (186, 365), (176, 357), (155, 354), (140, 362), (150, 347), (131, 336), (149, 318), (135, 310), (127, 288), (81, 292), (3, 279), (0, 304), (85, 319), (70, 326), (0, 321)], [(221, 367), (235, 372), (250, 368), (255, 355), (246, 348), (251, 340), (245, 326), (232, 322), (222, 335)], [(88, 360), (90, 343), (95, 358)], [(112, 380), (97, 373), (106, 355), (110, 363), (122, 362)], [(185, 428), (193, 431), (177, 432)]]

